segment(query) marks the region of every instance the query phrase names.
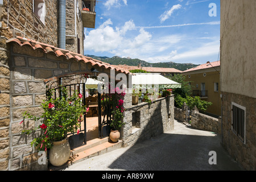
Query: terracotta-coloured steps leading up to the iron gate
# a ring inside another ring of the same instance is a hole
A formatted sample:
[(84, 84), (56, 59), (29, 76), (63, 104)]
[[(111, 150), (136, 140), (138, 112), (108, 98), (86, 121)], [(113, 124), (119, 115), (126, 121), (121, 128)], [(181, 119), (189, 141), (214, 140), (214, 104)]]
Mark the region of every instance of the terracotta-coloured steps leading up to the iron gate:
[(113, 143), (108, 137), (104, 139), (96, 138), (89, 140), (86, 142), (86, 145), (71, 150), (71, 156), (67, 163), (60, 167), (55, 167), (49, 164), (48, 171), (57, 171), (71, 166), (72, 164), (81, 162), (82, 160), (105, 154), (106, 152), (110, 152), (121, 147), (123, 147), (122, 140), (118, 140), (117, 143)]

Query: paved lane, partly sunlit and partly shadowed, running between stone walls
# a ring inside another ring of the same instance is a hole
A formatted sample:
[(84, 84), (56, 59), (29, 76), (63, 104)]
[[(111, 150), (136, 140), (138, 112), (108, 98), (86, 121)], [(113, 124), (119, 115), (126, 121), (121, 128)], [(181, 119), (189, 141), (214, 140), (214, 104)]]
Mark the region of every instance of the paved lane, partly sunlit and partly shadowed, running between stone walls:
[[(73, 164), (65, 171), (166, 171), (242, 170), (220, 145), (221, 137), (209, 131), (191, 129), (175, 121), (175, 129), (159, 137), (118, 148), (106, 154)], [(213, 162), (216, 152), (217, 164)]]

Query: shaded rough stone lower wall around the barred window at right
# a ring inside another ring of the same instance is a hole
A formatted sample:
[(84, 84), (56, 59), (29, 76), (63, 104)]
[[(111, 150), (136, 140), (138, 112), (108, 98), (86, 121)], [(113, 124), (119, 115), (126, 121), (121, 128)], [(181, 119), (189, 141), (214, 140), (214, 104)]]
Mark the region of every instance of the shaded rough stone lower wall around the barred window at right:
[[(246, 170), (256, 170), (256, 98), (222, 92), (223, 146)], [(232, 131), (232, 102), (246, 108), (245, 143)]]

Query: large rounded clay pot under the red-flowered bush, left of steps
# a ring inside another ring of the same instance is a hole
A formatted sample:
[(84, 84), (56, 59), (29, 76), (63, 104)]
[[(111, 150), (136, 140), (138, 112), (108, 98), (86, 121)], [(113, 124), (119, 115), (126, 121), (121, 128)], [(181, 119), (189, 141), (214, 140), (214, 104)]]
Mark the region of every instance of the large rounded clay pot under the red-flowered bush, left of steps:
[(49, 162), (53, 166), (62, 166), (65, 164), (71, 154), (71, 149), (67, 139), (53, 142), (49, 150)]

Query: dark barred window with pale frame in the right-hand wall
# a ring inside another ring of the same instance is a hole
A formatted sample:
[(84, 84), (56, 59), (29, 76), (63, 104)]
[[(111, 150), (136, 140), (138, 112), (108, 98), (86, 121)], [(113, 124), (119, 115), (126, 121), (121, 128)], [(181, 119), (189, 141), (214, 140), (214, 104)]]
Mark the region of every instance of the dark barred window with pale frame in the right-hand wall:
[(245, 143), (245, 107), (232, 102), (232, 130)]

